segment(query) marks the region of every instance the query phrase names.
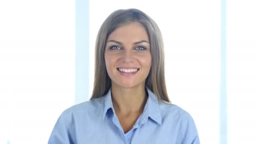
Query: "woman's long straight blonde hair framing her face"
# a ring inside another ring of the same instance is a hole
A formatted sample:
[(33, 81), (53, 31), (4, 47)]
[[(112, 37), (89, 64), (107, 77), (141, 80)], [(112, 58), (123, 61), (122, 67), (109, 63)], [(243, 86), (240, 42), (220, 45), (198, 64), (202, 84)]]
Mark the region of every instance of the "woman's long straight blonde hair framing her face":
[(101, 25), (95, 47), (95, 75), (91, 99), (104, 96), (111, 87), (111, 79), (107, 74), (104, 51), (108, 36), (118, 27), (132, 22), (142, 24), (148, 34), (152, 67), (146, 78), (145, 85), (161, 101), (171, 102), (165, 85), (164, 46), (160, 29), (153, 19), (138, 9), (117, 10), (111, 13)]

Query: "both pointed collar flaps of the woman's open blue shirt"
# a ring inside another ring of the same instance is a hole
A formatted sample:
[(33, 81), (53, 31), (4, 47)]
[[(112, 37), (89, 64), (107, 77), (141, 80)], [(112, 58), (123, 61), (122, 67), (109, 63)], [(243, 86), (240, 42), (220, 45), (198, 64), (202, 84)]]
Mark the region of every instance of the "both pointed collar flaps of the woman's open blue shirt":
[[(144, 111), (143, 111), (142, 115), (144, 117), (150, 117), (152, 120), (154, 120), (155, 122), (157, 122), (161, 125), (162, 124), (162, 117), (161, 117), (161, 111), (160, 111), (158, 99), (155, 96), (155, 94), (152, 91), (150, 91), (149, 88), (146, 88), (146, 89), (147, 89), (147, 92), (148, 92), (149, 96), (148, 96), (147, 103), (144, 107)], [(111, 99), (111, 88), (109, 88), (109, 91), (104, 96), (104, 113), (103, 113), (104, 115), (103, 115), (103, 118), (107, 114), (107, 110), (109, 108), (112, 108), (112, 111), (115, 112), (115, 109), (114, 109), (113, 104), (112, 104), (112, 99)]]

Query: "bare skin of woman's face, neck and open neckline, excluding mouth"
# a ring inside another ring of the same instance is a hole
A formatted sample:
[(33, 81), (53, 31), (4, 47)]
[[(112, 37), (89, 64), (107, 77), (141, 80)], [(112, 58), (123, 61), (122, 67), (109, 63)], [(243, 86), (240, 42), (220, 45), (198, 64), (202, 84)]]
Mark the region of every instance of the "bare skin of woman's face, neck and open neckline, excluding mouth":
[[(127, 133), (147, 102), (145, 80), (151, 67), (149, 38), (138, 23), (125, 24), (112, 32), (105, 48), (105, 61), (112, 81), (112, 103), (124, 133)], [(120, 68), (137, 69), (134, 75), (121, 75)]]

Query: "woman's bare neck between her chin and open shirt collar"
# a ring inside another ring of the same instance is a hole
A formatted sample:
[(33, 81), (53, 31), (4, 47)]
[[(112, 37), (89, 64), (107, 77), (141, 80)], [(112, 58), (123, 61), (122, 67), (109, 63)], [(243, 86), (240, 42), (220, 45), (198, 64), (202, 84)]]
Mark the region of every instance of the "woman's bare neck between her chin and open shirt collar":
[(134, 88), (123, 88), (112, 84), (112, 103), (115, 112), (120, 115), (132, 115), (142, 113), (147, 102), (145, 86), (140, 85)]

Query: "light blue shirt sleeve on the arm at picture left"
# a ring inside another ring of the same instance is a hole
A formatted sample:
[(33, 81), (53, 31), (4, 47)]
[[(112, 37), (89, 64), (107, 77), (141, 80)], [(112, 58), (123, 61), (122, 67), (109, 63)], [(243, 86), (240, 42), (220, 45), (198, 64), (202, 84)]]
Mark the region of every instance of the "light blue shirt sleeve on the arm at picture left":
[(48, 144), (75, 144), (64, 120), (64, 114), (62, 113), (53, 128)]

